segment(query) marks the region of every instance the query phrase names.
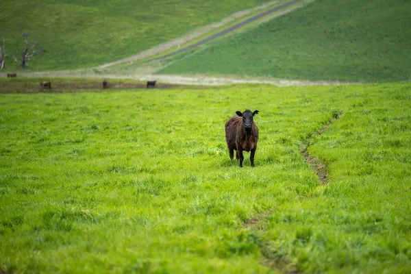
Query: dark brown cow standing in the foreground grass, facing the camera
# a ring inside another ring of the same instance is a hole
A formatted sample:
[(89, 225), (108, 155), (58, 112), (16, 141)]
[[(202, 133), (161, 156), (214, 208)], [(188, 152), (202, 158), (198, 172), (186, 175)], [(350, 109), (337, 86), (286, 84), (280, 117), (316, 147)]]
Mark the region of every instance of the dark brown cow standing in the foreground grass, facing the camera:
[(245, 112), (236, 112), (237, 116), (233, 116), (225, 123), (225, 140), (229, 151), (229, 158), (233, 160), (234, 151), (236, 158), (240, 159), (240, 167), (244, 155), (242, 151), (251, 151), (250, 161), (251, 166), (254, 166), (254, 155), (256, 155), (258, 142), (258, 127), (253, 122), (253, 116), (258, 114), (258, 110), (245, 110)]

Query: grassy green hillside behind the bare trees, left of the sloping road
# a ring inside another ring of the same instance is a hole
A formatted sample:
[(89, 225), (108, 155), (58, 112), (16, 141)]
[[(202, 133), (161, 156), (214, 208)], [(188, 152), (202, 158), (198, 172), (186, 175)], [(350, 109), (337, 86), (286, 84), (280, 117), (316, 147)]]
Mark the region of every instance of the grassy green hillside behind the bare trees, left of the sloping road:
[(29, 33), (47, 50), (34, 69), (75, 69), (125, 58), (264, 2), (3, 0), (0, 39), (16, 53)]

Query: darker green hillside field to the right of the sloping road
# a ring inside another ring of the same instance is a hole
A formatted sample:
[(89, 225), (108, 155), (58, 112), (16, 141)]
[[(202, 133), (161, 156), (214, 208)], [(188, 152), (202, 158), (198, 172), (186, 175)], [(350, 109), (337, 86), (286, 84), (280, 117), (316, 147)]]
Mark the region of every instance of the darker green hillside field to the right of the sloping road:
[(161, 73), (411, 79), (410, 1), (318, 0), (173, 60)]

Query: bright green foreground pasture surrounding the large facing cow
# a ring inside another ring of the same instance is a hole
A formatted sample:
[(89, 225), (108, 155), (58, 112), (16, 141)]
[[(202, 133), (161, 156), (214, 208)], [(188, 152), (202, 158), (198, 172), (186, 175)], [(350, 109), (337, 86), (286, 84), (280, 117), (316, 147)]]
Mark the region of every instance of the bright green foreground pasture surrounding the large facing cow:
[[(253, 169), (225, 147), (245, 108)], [(411, 271), (409, 84), (0, 95), (0, 112), (0, 272)]]

